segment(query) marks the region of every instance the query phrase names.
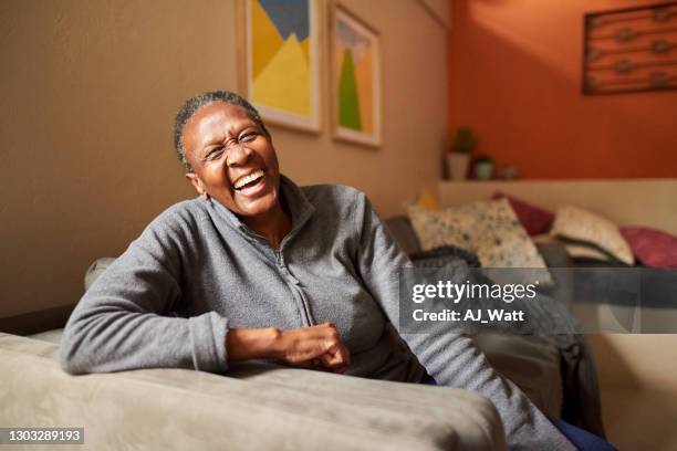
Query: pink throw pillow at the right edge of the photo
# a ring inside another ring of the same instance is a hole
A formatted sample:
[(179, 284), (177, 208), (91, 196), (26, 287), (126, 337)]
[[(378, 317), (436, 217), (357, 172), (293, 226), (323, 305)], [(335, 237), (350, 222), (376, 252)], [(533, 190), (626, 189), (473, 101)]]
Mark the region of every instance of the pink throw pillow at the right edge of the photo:
[(648, 227), (622, 227), (635, 256), (653, 268), (677, 268), (677, 237)]

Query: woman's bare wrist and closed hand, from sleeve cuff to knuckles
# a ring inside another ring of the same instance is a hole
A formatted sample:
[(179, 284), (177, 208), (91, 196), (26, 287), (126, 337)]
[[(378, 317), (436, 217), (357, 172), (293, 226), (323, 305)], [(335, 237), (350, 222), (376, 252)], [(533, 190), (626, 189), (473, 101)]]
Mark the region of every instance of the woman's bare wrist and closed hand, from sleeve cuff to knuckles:
[(323, 323), (292, 331), (233, 328), (226, 337), (228, 360), (274, 358), (303, 368), (343, 373), (351, 354), (341, 343), (336, 326)]

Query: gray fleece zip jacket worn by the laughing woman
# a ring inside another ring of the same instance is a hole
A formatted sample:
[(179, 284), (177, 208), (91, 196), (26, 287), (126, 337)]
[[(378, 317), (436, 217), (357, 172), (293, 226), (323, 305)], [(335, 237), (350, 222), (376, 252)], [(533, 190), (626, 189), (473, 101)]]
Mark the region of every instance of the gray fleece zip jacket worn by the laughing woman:
[(427, 370), (491, 399), (511, 448), (573, 449), (469, 337), (445, 331), (403, 335), (403, 344), (390, 325), (399, 324), (399, 269), (410, 263), (362, 192), (284, 177), (281, 192), (292, 229), (279, 250), (215, 200), (163, 212), (77, 304), (62, 367), (223, 373), (229, 328), (331, 321), (351, 352), (348, 375), (419, 382)]

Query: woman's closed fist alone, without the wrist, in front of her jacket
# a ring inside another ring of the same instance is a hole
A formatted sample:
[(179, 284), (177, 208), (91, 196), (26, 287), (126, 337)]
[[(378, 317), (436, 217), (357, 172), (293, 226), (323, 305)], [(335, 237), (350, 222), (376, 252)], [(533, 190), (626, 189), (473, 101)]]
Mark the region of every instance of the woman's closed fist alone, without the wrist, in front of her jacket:
[(332, 323), (282, 331), (278, 346), (277, 358), (294, 366), (343, 373), (351, 363), (351, 354)]

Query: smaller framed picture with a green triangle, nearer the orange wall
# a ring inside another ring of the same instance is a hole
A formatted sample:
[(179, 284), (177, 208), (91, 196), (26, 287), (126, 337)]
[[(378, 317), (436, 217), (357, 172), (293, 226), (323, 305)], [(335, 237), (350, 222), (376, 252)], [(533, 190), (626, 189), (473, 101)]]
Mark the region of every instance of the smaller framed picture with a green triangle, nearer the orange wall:
[(378, 33), (340, 3), (331, 19), (332, 133), (335, 139), (381, 146)]

